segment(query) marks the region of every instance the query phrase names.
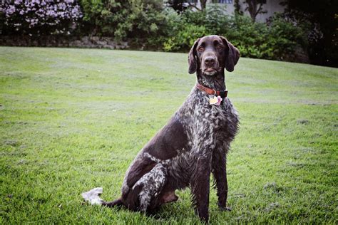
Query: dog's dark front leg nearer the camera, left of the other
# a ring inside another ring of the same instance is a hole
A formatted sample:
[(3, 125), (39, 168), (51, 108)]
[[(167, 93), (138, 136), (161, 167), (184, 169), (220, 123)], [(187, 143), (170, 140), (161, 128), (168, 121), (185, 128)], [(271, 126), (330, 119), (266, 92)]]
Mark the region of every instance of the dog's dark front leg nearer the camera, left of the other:
[(195, 210), (203, 220), (208, 223), (209, 219), (209, 192), (210, 192), (210, 170), (211, 155), (196, 154), (193, 157), (193, 171), (190, 179), (191, 192)]

